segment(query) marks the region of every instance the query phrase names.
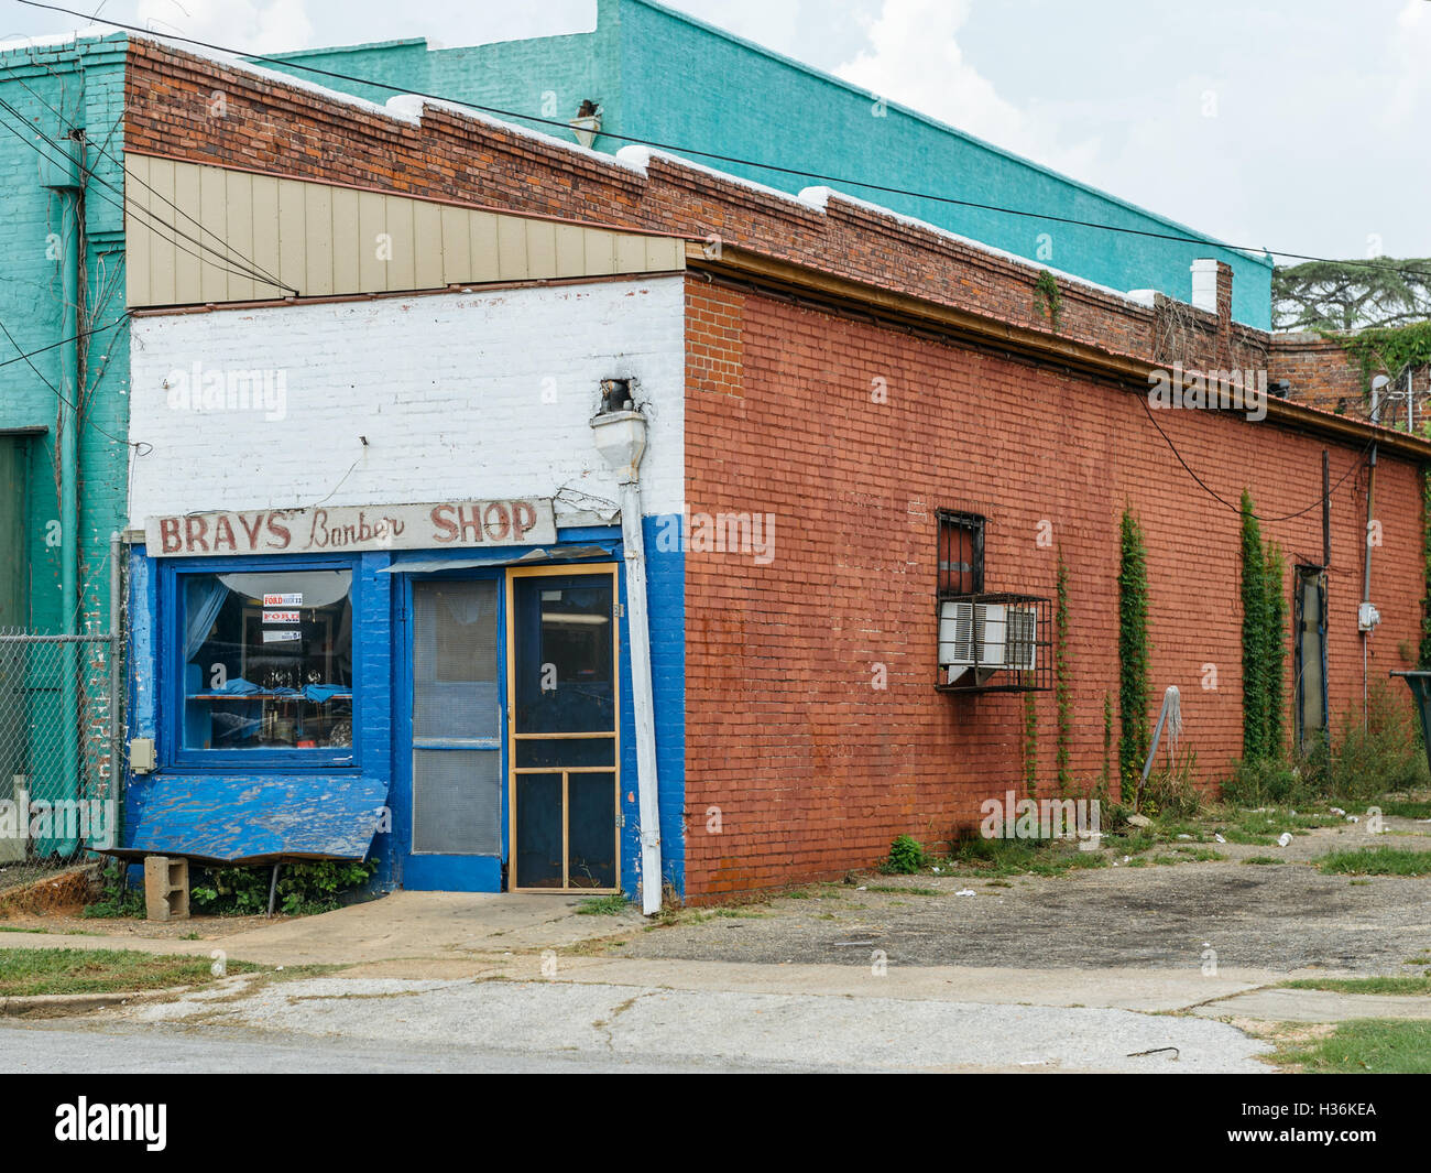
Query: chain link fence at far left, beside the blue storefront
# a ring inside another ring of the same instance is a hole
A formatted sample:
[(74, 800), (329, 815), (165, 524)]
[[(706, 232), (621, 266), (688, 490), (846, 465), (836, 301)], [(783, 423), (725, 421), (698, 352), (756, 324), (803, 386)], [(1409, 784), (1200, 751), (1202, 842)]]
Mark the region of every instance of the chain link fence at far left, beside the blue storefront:
[(0, 630), (0, 898), (119, 842), (119, 633)]

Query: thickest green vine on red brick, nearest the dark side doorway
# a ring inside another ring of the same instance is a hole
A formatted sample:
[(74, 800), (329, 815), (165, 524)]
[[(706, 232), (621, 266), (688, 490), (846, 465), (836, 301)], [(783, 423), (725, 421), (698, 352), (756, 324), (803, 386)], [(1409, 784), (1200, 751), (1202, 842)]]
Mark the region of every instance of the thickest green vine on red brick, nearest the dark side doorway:
[(1285, 729), (1286, 559), (1262, 544), (1252, 494), (1242, 490), (1242, 759), (1281, 758)]

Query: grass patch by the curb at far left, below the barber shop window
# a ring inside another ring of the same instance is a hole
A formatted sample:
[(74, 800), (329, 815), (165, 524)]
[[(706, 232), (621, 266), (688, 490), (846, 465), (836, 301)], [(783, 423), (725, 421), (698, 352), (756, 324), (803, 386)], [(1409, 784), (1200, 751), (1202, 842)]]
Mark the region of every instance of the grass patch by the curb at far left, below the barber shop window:
[[(213, 981), (206, 957), (173, 957), (137, 950), (0, 950), (0, 995), (113, 994), (123, 990), (163, 990)], [(228, 972), (262, 970), (249, 961), (229, 961)]]

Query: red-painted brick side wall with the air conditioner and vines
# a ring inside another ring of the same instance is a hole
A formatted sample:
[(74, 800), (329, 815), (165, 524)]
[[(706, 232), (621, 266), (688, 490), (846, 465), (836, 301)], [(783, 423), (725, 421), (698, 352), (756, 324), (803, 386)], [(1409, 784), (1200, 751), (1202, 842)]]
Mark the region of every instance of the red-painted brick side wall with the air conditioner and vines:
[[(768, 566), (687, 554), (687, 887), (693, 898), (837, 875), (909, 832), (946, 839), (979, 803), (1020, 789), (1022, 697), (936, 693), (934, 510), (987, 514), (986, 587), (1053, 596), (1053, 524), (1070, 570), (1073, 756), (1082, 788), (1118, 705), (1118, 520), (1148, 540), (1152, 686), (1182, 692), (1186, 745), (1208, 782), (1241, 752), (1239, 517), (1209, 498), (1153, 430), (1141, 395), (926, 342), (691, 279), (687, 497), (691, 513), (776, 514)], [(887, 381), (889, 402), (870, 401)], [(1359, 448), (1208, 411), (1161, 411), (1183, 458), (1265, 516), (1321, 494)], [(1402, 667), (1422, 583), (1418, 474), (1382, 457), (1384, 623), (1371, 677)], [(1332, 710), (1361, 699), (1365, 481), (1332, 494)], [(1321, 560), (1321, 510), (1264, 524), (1289, 561)], [(1291, 596), (1291, 574), (1286, 584)], [(871, 687), (873, 666), (889, 687)], [(1201, 687), (1216, 665), (1216, 692)], [(1291, 647), (1288, 647), (1291, 708)], [(1055, 705), (1039, 693), (1037, 776), (1056, 792)], [(1155, 713), (1149, 713), (1149, 719)], [(1288, 718), (1291, 733), (1291, 718)], [(1116, 723), (1115, 762), (1116, 778)], [(705, 832), (705, 809), (723, 831)]]

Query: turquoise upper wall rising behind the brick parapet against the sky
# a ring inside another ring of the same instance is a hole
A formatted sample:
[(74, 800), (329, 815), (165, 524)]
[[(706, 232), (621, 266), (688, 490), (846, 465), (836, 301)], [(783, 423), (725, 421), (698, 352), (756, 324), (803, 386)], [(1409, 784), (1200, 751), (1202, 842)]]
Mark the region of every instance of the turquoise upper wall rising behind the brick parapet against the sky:
[[(567, 123), (584, 102), (592, 102), (601, 113), (601, 133), (592, 143), (598, 150), (614, 153), (640, 139), (787, 192), (837, 188), (1113, 289), (1158, 289), (1188, 302), (1192, 262), (1215, 258), (1234, 271), (1234, 318), (1271, 328), (1268, 258), (1226, 248), (651, 0), (598, 0), (591, 33), (465, 49), (399, 40), (283, 54), (283, 60), (290, 64), (265, 63), (373, 102), (392, 97), (395, 86), (509, 112), (521, 117), (508, 120), (567, 139), (575, 137)], [(861, 188), (856, 179), (964, 203), (893, 195)], [(1043, 212), (1130, 232), (966, 205)]]

